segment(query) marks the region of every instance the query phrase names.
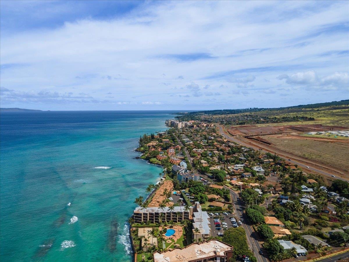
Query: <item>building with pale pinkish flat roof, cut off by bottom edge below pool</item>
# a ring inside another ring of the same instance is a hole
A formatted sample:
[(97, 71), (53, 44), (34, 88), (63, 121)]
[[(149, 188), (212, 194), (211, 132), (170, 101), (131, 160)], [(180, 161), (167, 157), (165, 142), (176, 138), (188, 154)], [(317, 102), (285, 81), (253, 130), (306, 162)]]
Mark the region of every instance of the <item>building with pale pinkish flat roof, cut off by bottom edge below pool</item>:
[(184, 248), (174, 248), (153, 253), (154, 262), (228, 262), (233, 255), (233, 247), (211, 239), (201, 243), (192, 243)]

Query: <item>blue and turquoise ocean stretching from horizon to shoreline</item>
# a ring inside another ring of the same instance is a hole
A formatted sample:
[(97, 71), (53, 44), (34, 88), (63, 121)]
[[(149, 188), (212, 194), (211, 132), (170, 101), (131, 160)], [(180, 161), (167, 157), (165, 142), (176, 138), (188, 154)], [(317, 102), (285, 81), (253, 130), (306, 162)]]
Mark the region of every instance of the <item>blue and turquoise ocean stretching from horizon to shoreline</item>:
[[(165, 130), (171, 117), (169, 111), (2, 112), (1, 260), (132, 261), (126, 221), (134, 198), (145, 196), (162, 171), (134, 159), (134, 148), (143, 133)], [(78, 220), (69, 224), (73, 216)]]

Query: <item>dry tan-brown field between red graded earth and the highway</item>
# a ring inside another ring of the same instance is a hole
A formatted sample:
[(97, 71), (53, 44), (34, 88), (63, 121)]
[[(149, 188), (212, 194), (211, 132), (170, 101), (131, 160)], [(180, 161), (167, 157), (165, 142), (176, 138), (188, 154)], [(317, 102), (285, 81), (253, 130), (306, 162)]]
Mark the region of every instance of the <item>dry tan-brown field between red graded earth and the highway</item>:
[(282, 136), (263, 136), (279, 150), (307, 158), (326, 166), (341, 169), (349, 174), (349, 143), (346, 141), (321, 141)]

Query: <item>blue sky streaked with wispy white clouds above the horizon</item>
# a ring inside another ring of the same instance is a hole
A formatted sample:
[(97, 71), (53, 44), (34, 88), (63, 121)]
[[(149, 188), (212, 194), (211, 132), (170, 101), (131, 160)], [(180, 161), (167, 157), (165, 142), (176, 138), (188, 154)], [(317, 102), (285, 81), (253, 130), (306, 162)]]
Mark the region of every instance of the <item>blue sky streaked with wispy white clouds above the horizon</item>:
[(0, 1), (0, 104), (209, 110), (349, 99), (349, 1)]

